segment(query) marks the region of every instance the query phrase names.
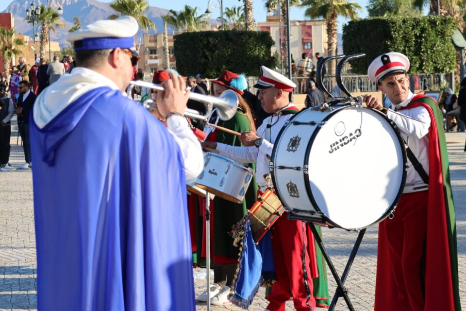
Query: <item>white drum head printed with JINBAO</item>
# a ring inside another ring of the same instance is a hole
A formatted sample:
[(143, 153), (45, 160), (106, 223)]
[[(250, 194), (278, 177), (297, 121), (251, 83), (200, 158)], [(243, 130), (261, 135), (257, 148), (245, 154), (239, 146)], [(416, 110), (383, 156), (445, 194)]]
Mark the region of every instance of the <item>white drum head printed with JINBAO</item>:
[(333, 223), (358, 229), (387, 215), (404, 182), (399, 137), (377, 112), (333, 113), (312, 141), (309, 185), (316, 206)]

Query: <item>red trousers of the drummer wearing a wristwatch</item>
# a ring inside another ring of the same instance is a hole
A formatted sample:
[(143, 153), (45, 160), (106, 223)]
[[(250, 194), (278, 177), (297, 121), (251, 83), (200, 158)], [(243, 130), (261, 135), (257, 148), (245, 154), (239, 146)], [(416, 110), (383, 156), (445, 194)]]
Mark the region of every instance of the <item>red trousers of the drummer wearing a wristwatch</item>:
[(286, 213), (273, 226), (272, 249), (277, 282), (272, 285), (270, 293), (267, 295), (269, 301), (267, 310), (284, 311), (285, 302), (290, 299), (290, 293), (297, 311), (315, 310), (316, 300), (313, 296), (313, 282), (307, 250), (304, 253), (306, 278), (310, 293), (309, 301), (302, 269), (303, 240), (306, 247), (308, 243), (314, 243), (314, 241), (308, 241), (307, 230), (309, 229), (305, 223), (288, 220)]

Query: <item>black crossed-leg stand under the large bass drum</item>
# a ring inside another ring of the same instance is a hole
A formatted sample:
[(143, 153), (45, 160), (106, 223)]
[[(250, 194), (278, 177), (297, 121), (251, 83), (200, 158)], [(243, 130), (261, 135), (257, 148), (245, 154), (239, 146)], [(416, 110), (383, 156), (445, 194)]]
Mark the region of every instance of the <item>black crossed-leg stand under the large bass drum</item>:
[(324, 243), (320, 239), (319, 233), (317, 232), (316, 227), (314, 226), (314, 223), (321, 225), (322, 224), (322, 219), (321, 218), (313, 218), (310, 216), (303, 216), (303, 215), (298, 215), (298, 214), (288, 214), (287, 216), (291, 220), (300, 220), (305, 222), (308, 227), (311, 229), (312, 234), (314, 235), (314, 239), (317, 242), (317, 245), (319, 246), (322, 255), (324, 256), (325, 261), (327, 262), (327, 265), (332, 272), (333, 278), (336, 281), (336, 291), (335, 294), (333, 295), (332, 303), (330, 304), (329, 311), (333, 311), (335, 308), (335, 305), (338, 301), (338, 298), (343, 297), (345, 299), (346, 305), (348, 306), (348, 309), (350, 311), (354, 311), (354, 307), (351, 304), (350, 297), (348, 297), (348, 289), (344, 286), (345, 280), (348, 276), (348, 273), (350, 272), (351, 265), (353, 264), (354, 259), (356, 258), (356, 254), (358, 252), (359, 246), (361, 245), (361, 242), (363, 241), (364, 234), (366, 233), (366, 228), (361, 229), (358, 234), (358, 238), (356, 239), (356, 242), (354, 242), (353, 248), (351, 250), (350, 258), (348, 259), (345, 270), (343, 271), (343, 274), (338, 276), (338, 272), (335, 269), (335, 266), (333, 266), (333, 262), (330, 259), (329, 253), (325, 249)]

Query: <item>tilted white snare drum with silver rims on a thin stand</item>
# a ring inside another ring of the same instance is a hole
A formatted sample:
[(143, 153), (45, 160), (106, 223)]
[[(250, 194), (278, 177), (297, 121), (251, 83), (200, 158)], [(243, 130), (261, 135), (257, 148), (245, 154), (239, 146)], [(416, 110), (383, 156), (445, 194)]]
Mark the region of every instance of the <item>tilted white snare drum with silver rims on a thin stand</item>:
[(204, 170), (196, 186), (234, 203), (243, 202), (254, 172), (226, 156), (204, 153)]

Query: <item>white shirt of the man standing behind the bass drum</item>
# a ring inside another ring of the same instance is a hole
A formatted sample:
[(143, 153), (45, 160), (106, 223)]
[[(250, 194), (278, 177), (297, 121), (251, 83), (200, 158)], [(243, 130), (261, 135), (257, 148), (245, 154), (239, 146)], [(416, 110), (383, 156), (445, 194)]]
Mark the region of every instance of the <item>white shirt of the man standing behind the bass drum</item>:
[[(408, 97), (404, 102), (393, 107), (405, 107), (415, 95), (409, 91)], [(422, 121), (415, 121), (387, 111), (387, 117), (394, 121), (403, 137), (404, 141), (408, 142), (409, 148), (413, 151), (419, 163), (421, 163), (424, 171), (429, 174), (429, 128), (431, 126), (431, 118), (429, 112), (424, 107), (415, 107), (406, 110), (400, 110), (401, 113), (410, 118)], [(406, 174), (406, 185), (419, 185), (424, 184), (422, 178), (416, 172), (415, 168), (408, 159), (408, 172)]]

